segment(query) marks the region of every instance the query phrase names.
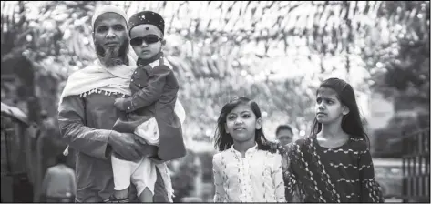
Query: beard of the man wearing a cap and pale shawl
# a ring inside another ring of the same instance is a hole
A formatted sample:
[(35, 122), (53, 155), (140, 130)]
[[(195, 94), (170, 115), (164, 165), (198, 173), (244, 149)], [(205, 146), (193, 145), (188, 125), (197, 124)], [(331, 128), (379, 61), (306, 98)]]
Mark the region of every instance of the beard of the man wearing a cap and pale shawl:
[(128, 65), (128, 40), (125, 40), (120, 46), (108, 46), (105, 49), (95, 41), (96, 54), (102, 65), (106, 67)]

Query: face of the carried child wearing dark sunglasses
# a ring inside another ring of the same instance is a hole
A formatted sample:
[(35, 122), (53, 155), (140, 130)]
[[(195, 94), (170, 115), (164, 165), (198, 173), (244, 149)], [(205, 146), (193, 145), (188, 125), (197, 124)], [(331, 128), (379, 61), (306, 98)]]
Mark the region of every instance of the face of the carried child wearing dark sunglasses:
[(130, 45), (141, 59), (157, 55), (165, 45), (159, 28), (149, 24), (134, 26), (130, 30)]

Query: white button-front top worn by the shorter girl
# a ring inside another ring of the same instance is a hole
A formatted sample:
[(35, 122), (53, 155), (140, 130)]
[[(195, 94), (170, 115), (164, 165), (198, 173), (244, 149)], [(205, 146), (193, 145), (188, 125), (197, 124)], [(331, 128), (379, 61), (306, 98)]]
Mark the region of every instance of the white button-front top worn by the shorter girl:
[(285, 202), (282, 157), (257, 148), (233, 146), (212, 159), (215, 202)]

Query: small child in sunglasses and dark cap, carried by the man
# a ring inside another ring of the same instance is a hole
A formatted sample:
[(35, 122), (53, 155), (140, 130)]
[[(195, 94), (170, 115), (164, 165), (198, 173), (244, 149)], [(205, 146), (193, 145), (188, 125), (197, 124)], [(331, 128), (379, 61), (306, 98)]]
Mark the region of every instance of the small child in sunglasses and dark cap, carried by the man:
[[(119, 118), (113, 129), (134, 132), (150, 145), (159, 146), (159, 158), (142, 158), (135, 163), (113, 155), (115, 193), (109, 201), (127, 201), (131, 179), (137, 187), (139, 201), (152, 202), (157, 178), (154, 162), (181, 158), (186, 153), (180, 119), (174, 112), (179, 84), (161, 51), (166, 43), (163, 18), (143, 11), (132, 15), (128, 26), (130, 45), (139, 56), (138, 68), (130, 80), (132, 97), (118, 98), (114, 104), (128, 113), (127, 118)], [(158, 168), (167, 171), (166, 164), (162, 165)], [(171, 183), (165, 182), (165, 185), (170, 187)]]

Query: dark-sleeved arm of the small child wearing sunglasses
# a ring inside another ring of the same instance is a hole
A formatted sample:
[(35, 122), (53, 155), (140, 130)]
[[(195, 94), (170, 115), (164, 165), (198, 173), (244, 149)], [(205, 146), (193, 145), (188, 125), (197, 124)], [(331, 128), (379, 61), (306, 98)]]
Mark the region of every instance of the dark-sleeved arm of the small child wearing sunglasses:
[(124, 99), (123, 109), (129, 113), (140, 107), (147, 107), (157, 101), (162, 94), (166, 78), (170, 72), (172, 70), (170, 70), (169, 66), (155, 66), (149, 75), (148, 85), (140, 89), (132, 97)]

